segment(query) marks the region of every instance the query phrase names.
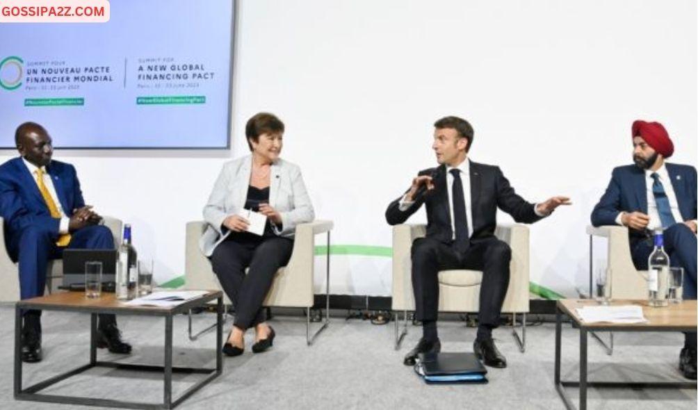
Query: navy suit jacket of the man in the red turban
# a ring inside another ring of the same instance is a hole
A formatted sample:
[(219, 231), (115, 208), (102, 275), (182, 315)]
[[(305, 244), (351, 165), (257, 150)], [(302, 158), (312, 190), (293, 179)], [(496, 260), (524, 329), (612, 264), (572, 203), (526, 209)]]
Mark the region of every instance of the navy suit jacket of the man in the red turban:
[[(671, 186), (676, 193), (678, 210), (683, 220), (695, 220), (697, 214), (696, 169), (690, 165), (665, 164)], [(647, 213), (647, 185), (644, 169), (625, 165), (613, 170), (606, 192), (591, 213), (591, 225), (616, 225), (619, 212)], [(682, 221), (676, 221), (682, 222)], [(646, 232), (630, 229), (630, 236), (646, 236)]]

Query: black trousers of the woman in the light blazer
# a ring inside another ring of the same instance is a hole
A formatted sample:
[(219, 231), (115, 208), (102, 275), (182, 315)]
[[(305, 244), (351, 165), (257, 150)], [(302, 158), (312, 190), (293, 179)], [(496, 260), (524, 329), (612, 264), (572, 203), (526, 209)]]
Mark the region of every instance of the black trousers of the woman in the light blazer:
[(230, 235), (216, 246), (211, 266), (235, 306), (235, 326), (247, 329), (267, 320), (262, 302), (292, 250), (292, 239), (278, 237), (251, 240)]

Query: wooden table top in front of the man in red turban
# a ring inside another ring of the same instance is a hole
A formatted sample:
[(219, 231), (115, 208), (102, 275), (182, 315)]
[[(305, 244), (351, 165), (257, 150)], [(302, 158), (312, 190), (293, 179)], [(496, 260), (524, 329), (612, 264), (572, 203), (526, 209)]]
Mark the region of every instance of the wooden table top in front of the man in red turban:
[(640, 324), (613, 324), (608, 322), (586, 323), (579, 319), (578, 307), (599, 306), (594, 299), (559, 299), (557, 305), (567, 316), (581, 327), (604, 327), (604, 328), (695, 328), (697, 326), (696, 301), (683, 301), (682, 303), (669, 303), (668, 306), (652, 307), (647, 305), (647, 301), (620, 300), (611, 301), (611, 306), (639, 305), (642, 306), (646, 323)]

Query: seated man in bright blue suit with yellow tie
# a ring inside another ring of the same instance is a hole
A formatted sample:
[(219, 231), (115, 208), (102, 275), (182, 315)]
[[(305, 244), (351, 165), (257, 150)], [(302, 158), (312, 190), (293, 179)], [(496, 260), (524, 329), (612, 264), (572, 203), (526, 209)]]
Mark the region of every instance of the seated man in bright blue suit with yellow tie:
[[(22, 299), (43, 296), (49, 259), (66, 248), (114, 249), (112, 232), (99, 225), (101, 217), (86, 206), (75, 167), (52, 161), (51, 137), (37, 123), (15, 131), (20, 157), (0, 165), (0, 216), (10, 258), (19, 262)], [(41, 353), (40, 311), (24, 312), (22, 360), (38, 362)], [(98, 347), (126, 354), (113, 314), (101, 314)]]

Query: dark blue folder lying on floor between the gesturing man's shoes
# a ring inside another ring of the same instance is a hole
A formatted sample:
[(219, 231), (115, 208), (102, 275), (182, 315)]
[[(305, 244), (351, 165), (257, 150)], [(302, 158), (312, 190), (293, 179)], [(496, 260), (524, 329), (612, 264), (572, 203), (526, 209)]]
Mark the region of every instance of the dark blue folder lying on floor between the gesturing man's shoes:
[(487, 369), (474, 353), (419, 354), (415, 372), (426, 383), (487, 383)]

